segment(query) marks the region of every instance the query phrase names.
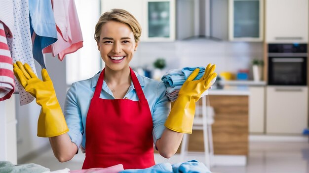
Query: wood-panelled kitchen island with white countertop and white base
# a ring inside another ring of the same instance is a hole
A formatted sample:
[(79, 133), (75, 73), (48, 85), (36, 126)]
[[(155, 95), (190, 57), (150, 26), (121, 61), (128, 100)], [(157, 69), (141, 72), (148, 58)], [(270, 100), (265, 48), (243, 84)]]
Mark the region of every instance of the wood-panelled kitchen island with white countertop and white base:
[[(215, 154), (212, 162), (215, 165), (246, 165), (249, 96), (249, 87), (243, 86), (208, 91), (206, 97), (215, 112), (212, 124)], [(201, 100), (196, 103), (198, 106), (202, 105)], [(202, 130), (193, 130), (188, 149), (195, 152), (204, 151)]]

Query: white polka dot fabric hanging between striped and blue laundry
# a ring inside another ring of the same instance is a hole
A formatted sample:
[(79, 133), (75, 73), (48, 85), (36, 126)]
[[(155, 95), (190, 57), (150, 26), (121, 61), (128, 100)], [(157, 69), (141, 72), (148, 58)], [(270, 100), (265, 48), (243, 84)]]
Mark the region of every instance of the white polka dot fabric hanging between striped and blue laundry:
[[(29, 6), (28, 0), (13, 0), (14, 11), (14, 35), (7, 39), (13, 62), (21, 61), (28, 63), (37, 74), (34, 58), (32, 55), (32, 41), (30, 35)], [(15, 77), (15, 83), (19, 91), (20, 105), (26, 105), (34, 100), (19, 84)], [(17, 89), (15, 89), (16, 91)]]

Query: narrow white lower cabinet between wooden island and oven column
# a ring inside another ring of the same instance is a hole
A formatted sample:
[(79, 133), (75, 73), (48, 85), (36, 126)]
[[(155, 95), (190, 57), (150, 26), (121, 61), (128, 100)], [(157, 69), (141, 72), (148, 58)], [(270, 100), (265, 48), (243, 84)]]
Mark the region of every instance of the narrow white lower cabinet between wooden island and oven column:
[(249, 132), (264, 133), (265, 87), (249, 87)]

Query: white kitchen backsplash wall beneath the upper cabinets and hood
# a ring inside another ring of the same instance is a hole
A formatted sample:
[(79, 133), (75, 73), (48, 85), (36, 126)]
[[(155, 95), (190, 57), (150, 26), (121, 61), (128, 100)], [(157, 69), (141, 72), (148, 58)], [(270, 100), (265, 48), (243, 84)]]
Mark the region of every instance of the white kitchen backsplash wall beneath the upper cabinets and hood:
[(156, 58), (165, 58), (165, 70), (186, 66), (217, 65), (216, 72), (239, 69), (251, 71), (252, 59), (263, 59), (263, 43), (211, 41), (205, 39), (176, 42), (141, 42), (131, 66), (153, 65)]

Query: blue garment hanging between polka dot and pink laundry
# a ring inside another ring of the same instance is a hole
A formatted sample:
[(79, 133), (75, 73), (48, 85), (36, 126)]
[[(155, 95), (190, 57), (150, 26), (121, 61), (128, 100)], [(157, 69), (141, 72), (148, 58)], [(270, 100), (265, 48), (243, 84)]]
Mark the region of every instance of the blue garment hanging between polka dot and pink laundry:
[[(60, 0), (62, 1), (62, 0)], [(57, 30), (50, 0), (29, 0), (33, 57), (46, 68), (42, 50), (57, 41)]]

